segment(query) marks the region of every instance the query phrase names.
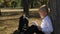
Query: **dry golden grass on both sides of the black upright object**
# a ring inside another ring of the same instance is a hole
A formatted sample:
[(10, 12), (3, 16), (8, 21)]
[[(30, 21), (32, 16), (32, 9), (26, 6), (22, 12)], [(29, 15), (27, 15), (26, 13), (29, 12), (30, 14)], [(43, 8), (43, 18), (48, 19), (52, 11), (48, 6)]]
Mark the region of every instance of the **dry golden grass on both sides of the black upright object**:
[[(30, 18), (29, 26), (32, 25), (32, 21), (37, 21), (40, 23), (39, 18)], [(4, 20), (0, 23), (0, 34), (12, 34), (15, 30), (18, 29), (19, 19)], [(40, 24), (39, 24), (40, 25)]]

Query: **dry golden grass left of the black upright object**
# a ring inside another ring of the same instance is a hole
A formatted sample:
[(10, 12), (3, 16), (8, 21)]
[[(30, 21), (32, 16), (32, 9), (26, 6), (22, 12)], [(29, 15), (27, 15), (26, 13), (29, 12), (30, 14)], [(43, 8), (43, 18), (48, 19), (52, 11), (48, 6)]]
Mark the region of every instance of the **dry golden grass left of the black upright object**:
[(18, 19), (16, 20), (5, 20), (0, 26), (0, 34), (11, 34), (18, 28)]

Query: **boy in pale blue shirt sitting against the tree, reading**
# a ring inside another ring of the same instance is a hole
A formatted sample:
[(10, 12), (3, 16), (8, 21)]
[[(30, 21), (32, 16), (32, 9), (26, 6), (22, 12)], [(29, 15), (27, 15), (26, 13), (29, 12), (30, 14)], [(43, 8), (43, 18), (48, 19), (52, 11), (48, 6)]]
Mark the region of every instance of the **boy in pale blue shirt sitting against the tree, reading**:
[[(46, 5), (42, 5), (38, 11), (40, 17), (42, 18), (41, 25), (38, 26), (36, 21), (33, 21), (33, 25), (27, 30), (29, 33), (36, 32), (37, 34), (51, 34), (53, 32), (52, 22), (48, 16), (48, 8)], [(27, 32), (26, 32), (27, 33)], [(27, 34), (29, 34), (27, 33)]]

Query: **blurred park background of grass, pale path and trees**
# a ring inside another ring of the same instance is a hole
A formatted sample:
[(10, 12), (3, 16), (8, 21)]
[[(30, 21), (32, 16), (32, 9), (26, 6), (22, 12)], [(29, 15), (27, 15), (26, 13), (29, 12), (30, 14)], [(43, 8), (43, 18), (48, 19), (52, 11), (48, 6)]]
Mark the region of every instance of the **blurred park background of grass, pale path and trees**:
[(50, 7), (49, 0), (27, 0), (26, 4), (24, 4), (24, 1), (0, 0), (0, 34), (12, 34), (17, 30), (19, 18), (23, 13), (26, 13), (29, 17), (29, 26), (32, 25), (34, 20), (40, 23), (38, 8), (43, 4)]

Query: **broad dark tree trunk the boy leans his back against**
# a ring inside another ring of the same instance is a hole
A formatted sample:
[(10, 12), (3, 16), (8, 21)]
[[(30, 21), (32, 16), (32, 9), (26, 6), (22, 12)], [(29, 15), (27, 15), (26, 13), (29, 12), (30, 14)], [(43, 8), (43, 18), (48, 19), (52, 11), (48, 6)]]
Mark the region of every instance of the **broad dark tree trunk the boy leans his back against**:
[(60, 34), (60, 0), (50, 0), (50, 16), (53, 19), (54, 34)]

